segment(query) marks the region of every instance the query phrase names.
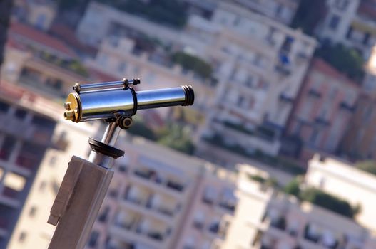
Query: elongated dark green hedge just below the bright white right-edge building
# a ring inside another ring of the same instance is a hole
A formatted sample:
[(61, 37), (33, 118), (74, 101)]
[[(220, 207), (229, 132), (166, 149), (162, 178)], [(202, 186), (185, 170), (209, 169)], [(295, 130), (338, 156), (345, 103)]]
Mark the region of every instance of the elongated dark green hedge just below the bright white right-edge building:
[(354, 217), (356, 211), (360, 210), (358, 207), (353, 208), (347, 201), (342, 200), (341, 198), (326, 194), (325, 192), (314, 188), (300, 191), (299, 197), (304, 201), (309, 201), (317, 206), (327, 208), (335, 213), (340, 213), (342, 216), (350, 218)]

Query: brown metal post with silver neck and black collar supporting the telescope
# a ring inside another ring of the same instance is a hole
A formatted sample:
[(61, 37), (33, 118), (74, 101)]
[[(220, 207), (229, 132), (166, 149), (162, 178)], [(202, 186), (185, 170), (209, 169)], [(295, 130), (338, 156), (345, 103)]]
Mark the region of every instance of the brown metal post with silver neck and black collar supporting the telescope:
[(50, 211), (48, 223), (57, 226), (49, 249), (85, 247), (113, 176), (113, 161), (124, 155), (113, 147), (120, 130), (118, 122), (108, 122), (101, 142), (88, 140), (88, 160), (73, 156), (69, 162)]

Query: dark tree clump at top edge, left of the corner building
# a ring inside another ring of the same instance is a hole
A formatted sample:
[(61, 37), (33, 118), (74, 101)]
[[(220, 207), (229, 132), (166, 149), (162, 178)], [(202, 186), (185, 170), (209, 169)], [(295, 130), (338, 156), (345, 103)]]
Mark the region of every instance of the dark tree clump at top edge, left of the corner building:
[(313, 36), (315, 28), (325, 15), (325, 0), (301, 0), (291, 26), (301, 28), (304, 33)]

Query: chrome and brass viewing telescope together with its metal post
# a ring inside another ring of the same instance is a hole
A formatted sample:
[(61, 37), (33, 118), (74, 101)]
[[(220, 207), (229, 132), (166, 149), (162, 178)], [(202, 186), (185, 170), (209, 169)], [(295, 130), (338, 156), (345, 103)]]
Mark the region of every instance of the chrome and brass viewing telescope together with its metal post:
[(49, 249), (82, 249), (111, 182), (113, 161), (125, 152), (114, 147), (121, 129), (133, 124), (137, 110), (193, 105), (190, 85), (136, 91), (139, 79), (106, 83), (76, 83), (64, 103), (64, 118), (72, 122), (105, 120), (101, 141), (88, 139), (88, 160), (73, 156), (52, 205), (48, 223), (56, 226)]

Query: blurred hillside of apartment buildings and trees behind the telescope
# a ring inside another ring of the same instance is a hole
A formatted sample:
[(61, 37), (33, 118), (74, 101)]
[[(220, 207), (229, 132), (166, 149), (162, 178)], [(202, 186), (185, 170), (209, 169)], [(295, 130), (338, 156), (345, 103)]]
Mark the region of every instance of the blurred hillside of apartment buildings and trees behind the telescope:
[(137, 113), (86, 249), (375, 249), (375, 0), (0, 0), (0, 248), (47, 248), (74, 83), (193, 85)]

